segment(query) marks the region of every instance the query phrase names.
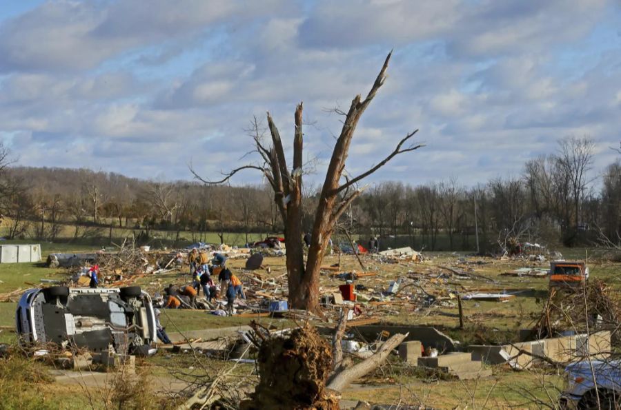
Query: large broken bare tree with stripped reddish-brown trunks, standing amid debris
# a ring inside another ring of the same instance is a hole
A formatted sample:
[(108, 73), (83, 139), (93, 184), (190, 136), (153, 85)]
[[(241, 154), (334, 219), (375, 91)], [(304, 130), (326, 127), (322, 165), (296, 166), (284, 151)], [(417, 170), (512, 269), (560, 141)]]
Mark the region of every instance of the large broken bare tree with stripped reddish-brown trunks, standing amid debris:
[[(293, 136), (293, 167), (287, 165), (282, 140), (279, 130), (274, 123), (272, 116), (267, 114), (268, 129), (270, 131), (272, 145), (266, 147), (262, 141), (261, 134), (257, 132), (254, 136), (255, 151), (262, 158), (258, 164), (243, 165), (231, 172), (228, 172), (220, 181), (210, 181), (201, 178), (193, 167), (196, 178), (207, 184), (224, 183), (237, 172), (246, 169), (259, 170), (270, 182), (274, 191), (274, 201), (279, 208), (280, 214), (285, 225), (286, 234), (286, 266), (288, 271), (288, 290), (289, 303), (295, 309), (306, 309), (318, 312), (319, 307), (319, 269), (324, 257), (324, 249), (328, 240), (333, 234), (335, 223), (345, 212), (351, 203), (357, 198), (364, 187), (358, 187), (358, 183), (373, 172), (386, 165), (388, 161), (398, 154), (417, 150), (422, 145), (406, 145), (414, 136), (416, 131), (410, 132), (401, 139), (395, 150), (388, 154), (386, 158), (371, 167), (366, 172), (362, 172), (353, 178), (344, 174), (345, 163), (349, 152), (349, 147), (354, 136), (356, 126), (362, 114), (371, 104), (375, 94), (386, 80), (386, 69), (390, 61), (391, 53), (388, 54), (384, 65), (377, 75), (375, 83), (371, 87), (366, 97), (362, 99), (360, 95), (355, 96), (348, 112), (339, 112), (345, 119), (341, 133), (337, 137), (333, 149), (326, 178), (319, 196), (319, 203), (315, 211), (313, 232), (311, 234), (311, 246), (308, 249), (308, 258), (304, 264), (304, 247), (302, 245), (302, 175), (303, 175), (303, 133), (302, 133), (302, 110), (303, 105), (299, 103), (295, 109), (295, 131)], [(342, 179), (345, 181), (342, 181)]]

